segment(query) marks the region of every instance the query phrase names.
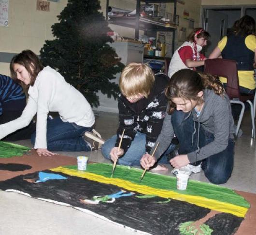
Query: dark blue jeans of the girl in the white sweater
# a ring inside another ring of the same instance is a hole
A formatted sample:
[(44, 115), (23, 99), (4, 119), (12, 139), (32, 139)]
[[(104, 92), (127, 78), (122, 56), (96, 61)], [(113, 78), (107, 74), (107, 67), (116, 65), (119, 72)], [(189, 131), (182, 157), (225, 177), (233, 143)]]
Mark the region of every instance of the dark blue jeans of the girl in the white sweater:
[[(47, 149), (50, 151), (90, 151), (90, 146), (83, 139), (85, 131), (92, 127), (82, 127), (75, 123), (63, 122), (59, 117), (47, 119)], [(36, 132), (31, 135), (34, 145)]]

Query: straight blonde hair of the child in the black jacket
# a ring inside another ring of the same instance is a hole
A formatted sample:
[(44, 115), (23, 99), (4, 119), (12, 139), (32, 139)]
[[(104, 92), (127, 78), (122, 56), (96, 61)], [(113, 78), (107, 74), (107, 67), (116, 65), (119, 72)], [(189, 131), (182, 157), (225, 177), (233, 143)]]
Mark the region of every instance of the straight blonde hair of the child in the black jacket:
[(119, 87), (126, 97), (136, 97), (140, 93), (147, 98), (154, 81), (155, 75), (149, 66), (130, 63), (122, 71)]

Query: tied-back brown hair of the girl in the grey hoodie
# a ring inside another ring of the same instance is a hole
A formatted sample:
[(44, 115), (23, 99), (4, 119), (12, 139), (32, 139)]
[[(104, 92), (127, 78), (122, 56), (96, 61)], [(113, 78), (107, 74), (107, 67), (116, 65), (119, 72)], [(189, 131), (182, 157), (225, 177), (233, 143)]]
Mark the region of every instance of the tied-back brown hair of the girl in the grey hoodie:
[(204, 89), (213, 90), (217, 95), (224, 95), (225, 90), (218, 77), (210, 74), (197, 73), (191, 69), (181, 69), (172, 75), (171, 80), (165, 90), (165, 95), (169, 101), (171, 114), (175, 109), (173, 98), (185, 100), (196, 100), (203, 103), (203, 99), (198, 96)]

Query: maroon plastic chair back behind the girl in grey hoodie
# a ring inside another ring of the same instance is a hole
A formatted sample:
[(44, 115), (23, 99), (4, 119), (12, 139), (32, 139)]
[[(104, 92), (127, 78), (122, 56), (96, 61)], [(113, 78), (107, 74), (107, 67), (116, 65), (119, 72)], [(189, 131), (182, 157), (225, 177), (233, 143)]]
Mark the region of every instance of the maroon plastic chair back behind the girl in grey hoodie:
[(230, 100), (241, 98), (235, 60), (209, 59), (204, 62), (204, 72), (227, 78), (226, 92)]

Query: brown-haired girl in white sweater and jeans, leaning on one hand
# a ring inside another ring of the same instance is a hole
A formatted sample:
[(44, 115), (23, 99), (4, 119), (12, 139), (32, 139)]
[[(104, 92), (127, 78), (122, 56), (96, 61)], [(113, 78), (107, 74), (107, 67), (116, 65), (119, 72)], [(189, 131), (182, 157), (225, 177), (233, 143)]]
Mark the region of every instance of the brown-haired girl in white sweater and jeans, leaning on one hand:
[[(12, 78), (28, 88), (28, 103), (20, 118), (0, 125), (0, 139), (26, 127), (37, 114), (31, 142), (39, 156), (55, 155), (50, 151), (89, 151), (83, 134), (92, 130), (95, 117), (85, 97), (56, 70), (43, 68), (30, 50), (15, 55), (10, 70)], [(49, 112), (58, 112), (59, 117), (49, 119)]]

